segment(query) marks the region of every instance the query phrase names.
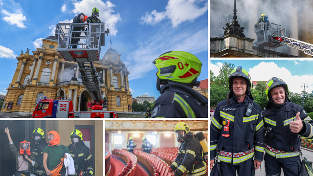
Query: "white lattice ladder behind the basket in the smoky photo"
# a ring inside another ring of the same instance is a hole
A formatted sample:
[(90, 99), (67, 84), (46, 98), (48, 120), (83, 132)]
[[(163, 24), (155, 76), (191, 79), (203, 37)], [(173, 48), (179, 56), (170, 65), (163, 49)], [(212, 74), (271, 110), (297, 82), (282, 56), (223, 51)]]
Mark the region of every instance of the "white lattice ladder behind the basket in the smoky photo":
[(281, 36), (282, 43), (287, 44), (288, 46), (303, 51), (305, 54), (313, 56), (313, 44), (309, 44), (306, 42), (302, 42), (296, 39), (288, 38), (285, 36)]

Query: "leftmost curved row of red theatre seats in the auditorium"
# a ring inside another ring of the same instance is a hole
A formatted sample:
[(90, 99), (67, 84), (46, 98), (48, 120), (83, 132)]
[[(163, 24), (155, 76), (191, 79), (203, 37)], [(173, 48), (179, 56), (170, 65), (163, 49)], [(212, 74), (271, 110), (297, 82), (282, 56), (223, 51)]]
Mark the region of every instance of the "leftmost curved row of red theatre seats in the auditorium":
[(127, 163), (126, 167), (123, 168), (123, 170), (121, 171), (121, 173), (118, 174), (118, 176), (134, 176), (134, 172), (137, 165), (136, 155), (127, 152), (127, 150), (117, 150), (117, 149), (114, 149), (112, 151), (112, 154), (120, 157)]

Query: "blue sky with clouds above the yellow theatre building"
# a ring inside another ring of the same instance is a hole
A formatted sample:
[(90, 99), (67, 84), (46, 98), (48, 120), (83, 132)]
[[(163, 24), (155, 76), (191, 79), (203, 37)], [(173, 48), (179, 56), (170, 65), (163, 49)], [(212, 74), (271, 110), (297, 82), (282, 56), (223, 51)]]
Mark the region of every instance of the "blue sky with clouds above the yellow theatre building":
[(100, 57), (111, 37), (130, 72), (133, 97), (159, 96), (151, 62), (167, 51), (194, 54), (202, 62), (198, 80), (208, 78), (207, 0), (0, 0), (0, 94), (12, 81), (21, 50), (35, 51), (43, 38), (54, 35), (55, 24), (71, 22), (81, 12), (90, 16), (93, 7), (111, 31)]

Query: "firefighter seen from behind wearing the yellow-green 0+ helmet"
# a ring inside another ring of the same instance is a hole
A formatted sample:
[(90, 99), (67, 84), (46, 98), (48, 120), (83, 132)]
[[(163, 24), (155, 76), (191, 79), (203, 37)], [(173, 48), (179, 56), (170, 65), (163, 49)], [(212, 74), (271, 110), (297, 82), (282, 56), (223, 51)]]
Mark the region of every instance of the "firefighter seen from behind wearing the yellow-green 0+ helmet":
[(208, 117), (208, 100), (193, 89), (201, 73), (201, 61), (183, 51), (163, 53), (155, 61), (156, 89), (161, 93), (152, 117)]

